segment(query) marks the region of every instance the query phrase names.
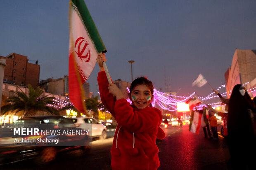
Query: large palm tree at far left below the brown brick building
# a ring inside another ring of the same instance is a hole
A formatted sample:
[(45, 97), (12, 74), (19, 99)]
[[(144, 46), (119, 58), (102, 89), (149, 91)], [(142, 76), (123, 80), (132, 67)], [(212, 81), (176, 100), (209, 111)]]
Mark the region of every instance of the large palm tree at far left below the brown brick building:
[(1, 107), (1, 115), (11, 111), (17, 112), (23, 111), (23, 116), (33, 116), (36, 115), (37, 111), (44, 111), (48, 114), (59, 115), (59, 111), (52, 107), (47, 106), (47, 104), (52, 104), (54, 97), (43, 96), (40, 98), (40, 95), (43, 93), (43, 89), (37, 87), (34, 89), (30, 84), (28, 85), (28, 96), (23, 91), (14, 92), (17, 96), (9, 97), (6, 102), (9, 102), (8, 105)]

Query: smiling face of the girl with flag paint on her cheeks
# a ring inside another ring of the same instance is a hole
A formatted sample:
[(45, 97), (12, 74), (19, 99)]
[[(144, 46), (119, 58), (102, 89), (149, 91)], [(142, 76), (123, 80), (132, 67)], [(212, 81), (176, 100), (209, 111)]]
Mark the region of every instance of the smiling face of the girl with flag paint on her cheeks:
[(144, 109), (152, 101), (151, 91), (145, 84), (137, 85), (131, 91), (130, 100), (137, 109)]

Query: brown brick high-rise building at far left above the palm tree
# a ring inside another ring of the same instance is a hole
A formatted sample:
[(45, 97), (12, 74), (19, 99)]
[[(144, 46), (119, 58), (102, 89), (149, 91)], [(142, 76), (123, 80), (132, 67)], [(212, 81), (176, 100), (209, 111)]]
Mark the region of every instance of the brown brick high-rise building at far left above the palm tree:
[(36, 88), (39, 84), (40, 65), (28, 63), (28, 57), (12, 53), (6, 57), (0, 56), (6, 60), (4, 72), (4, 82), (16, 84), (19, 86), (28, 86), (31, 84)]

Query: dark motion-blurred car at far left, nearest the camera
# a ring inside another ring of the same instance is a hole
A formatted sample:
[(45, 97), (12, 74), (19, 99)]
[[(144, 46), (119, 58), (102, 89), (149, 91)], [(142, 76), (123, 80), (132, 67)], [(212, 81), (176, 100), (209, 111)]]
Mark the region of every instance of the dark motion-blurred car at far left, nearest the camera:
[[(5, 128), (9, 128), (10, 130), (12, 130), (13, 128), (15, 128), (17, 125), (20, 124), (26, 124), (26, 126), (28, 125), (28, 123), (40, 123), (40, 124), (44, 124), (44, 123), (51, 123), (49, 127), (53, 127), (53, 128), (60, 128), (60, 129), (64, 129), (64, 128), (71, 128), (72, 129), (72, 125), (73, 128), (77, 128), (76, 125), (70, 120), (70, 119), (66, 119), (63, 116), (30, 116), (30, 117), (24, 117), (21, 119), (18, 119), (17, 121), (15, 121), (14, 123), (10, 123), (7, 124), (6, 126), (4, 126)], [(65, 126), (64, 124), (67, 124), (68, 126)], [(3, 128), (3, 127), (2, 127)], [(1, 130), (2, 130), (1, 128)], [(32, 137), (32, 136), (30, 136)], [(4, 146), (3, 144), (0, 146), (0, 165), (4, 164), (4, 163), (8, 163), (8, 162), (13, 162), (13, 161), (21, 161), (27, 158), (33, 158), (34, 162), (36, 164), (45, 164), (48, 162), (51, 162), (53, 160), (55, 160), (57, 153), (62, 152), (62, 151), (69, 151), (69, 150), (73, 150), (73, 149), (84, 149), (85, 151), (88, 150), (88, 145), (81, 145), (81, 146), (73, 146), (73, 145), (69, 145), (72, 144), (71, 142), (85, 142), (88, 139), (85, 139), (85, 136), (81, 136), (81, 135), (52, 135), (52, 136), (36, 136), (37, 138), (40, 137), (48, 137), (48, 139), (50, 139), (49, 137), (52, 137), (54, 139), (59, 138), (59, 139), (63, 139), (63, 140), (59, 140), (59, 142), (65, 142), (65, 143), (59, 143), (56, 144), (54, 146), (49, 145), (49, 146), (40, 146), (40, 145), (34, 145), (34, 146), (24, 146), (24, 144), (12, 144), (11, 146), (10, 144), (7, 144), (7, 146)], [(8, 140), (12, 140), (11, 138), (13, 138), (11, 135), (9, 137), (3, 137), (0, 136), (0, 140), (1, 142), (8, 142)], [(29, 136), (26, 136), (24, 138), (29, 138)], [(43, 139), (43, 138), (42, 138)], [(66, 145), (63, 145), (66, 144)], [(60, 145), (60, 146), (57, 146)]]

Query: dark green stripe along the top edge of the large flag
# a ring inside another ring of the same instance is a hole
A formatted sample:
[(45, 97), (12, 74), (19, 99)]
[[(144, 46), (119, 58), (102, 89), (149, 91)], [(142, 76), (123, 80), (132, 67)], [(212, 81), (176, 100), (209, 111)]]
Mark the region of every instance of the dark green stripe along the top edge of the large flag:
[(72, 0), (72, 3), (78, 9), (81, 18), (83, 19), (83, 23), (86, 26), (86, 30), (88, 31), (92, 41), (94, 42), (97, 51), (99, 53), (107, 52), (106, 47), (103, 44), (100, 34), (95, 26), (94, 21), (92, 20), (92, 16), (90, 15), (90, 12), (87, 6), (85, 5), (84, 0)]

